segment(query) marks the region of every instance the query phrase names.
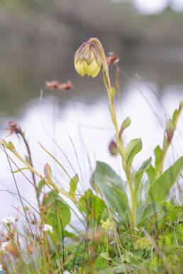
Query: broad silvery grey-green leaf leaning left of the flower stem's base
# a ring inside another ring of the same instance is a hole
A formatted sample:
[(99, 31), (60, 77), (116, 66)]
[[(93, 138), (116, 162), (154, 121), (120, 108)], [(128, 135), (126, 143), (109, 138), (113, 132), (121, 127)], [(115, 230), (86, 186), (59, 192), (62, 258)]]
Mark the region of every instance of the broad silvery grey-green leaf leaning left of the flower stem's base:
[(114, 213), (118, 213), (120, 218), (126, 219), (130, 210), (125, 183), (120, 176), (109, 165), (97, 161), (94, 181), (109, 209), (115, 210)]

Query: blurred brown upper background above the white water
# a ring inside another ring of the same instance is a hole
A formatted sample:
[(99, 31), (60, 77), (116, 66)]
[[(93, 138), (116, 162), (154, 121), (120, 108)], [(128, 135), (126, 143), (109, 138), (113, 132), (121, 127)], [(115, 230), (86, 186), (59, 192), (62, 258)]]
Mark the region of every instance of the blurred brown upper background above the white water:
[(165, 85), (182, 84), (183, 13), (172, 3), (150, 15), (140, 14), (135, 1), (1, 0), (1, 115), (16, 115), (50, 79), (70, 79), (75, 96), (87, 89), (84, 100), (99, 100), (101, 77), (89, 91), (91, 79), (78, 81), (72, 66), (74, 51), (92, 36), (121, 57), (128, 74), (155, 81), (160, 92)]

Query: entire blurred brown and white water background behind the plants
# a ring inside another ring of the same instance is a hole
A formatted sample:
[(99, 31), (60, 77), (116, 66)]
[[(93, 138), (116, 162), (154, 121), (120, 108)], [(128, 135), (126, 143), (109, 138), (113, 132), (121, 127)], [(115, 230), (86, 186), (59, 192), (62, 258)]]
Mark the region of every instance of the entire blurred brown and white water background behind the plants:
[[(106, 53), (114, 52), (121, 58), (119, 66), (128, 75), (120, 74), (121, 101), (116, 98), (116, 105), (119, 123), (127, 116), (132, 120), (126, 142), (143, 139), (136, 166), (153, 156), (155, 146), (162, 144), (167, 118), (183, 97), (182, 12), (181, 0), (1, 0), (0, 137), (11, 140), (18, 152), (26, 155), (16, 135), (7, 137), (7, 122), (16, 121), (28, 137), (35, 169), (43, 174), (48, 162), (57, 183), (65, 188), (68, 179), (38, 142), (57, 156), (70, 176), (79, 174), (82, 188), (89, 186), (96, 160), (106, 161), (123, 176), (120, 159), (110, 156), (108, 150), (114, 131), (102, 74), (91, 79), (74, 71), (75, 50), (94, 36), (101, 40)], [(114, 86), (115, 73), (116, 68), (110, 67)], [(135, 74), (145, 79), (165, 109)], [(44, 89), (46, 80), (64, 83), (67, 79), (74, 89)], [(181, 117), (166, 166), (182, 154), (182, 122)], [(0, 217), (16, 215), (20, 202), (16, 194), (6, 192), (17, 193), (2, 151), (0, 163)], [(28, 171), (23, 172), (30, 177)], [(16, 181), (21, 195), (35, 205), (32, 185), (18, 173)]]

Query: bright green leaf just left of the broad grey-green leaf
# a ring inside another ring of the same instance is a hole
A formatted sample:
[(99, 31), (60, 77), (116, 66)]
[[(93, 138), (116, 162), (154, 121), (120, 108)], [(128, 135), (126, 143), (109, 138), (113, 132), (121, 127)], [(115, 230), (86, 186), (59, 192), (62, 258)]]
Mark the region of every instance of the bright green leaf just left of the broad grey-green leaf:
[(89, 219), (94, 217), (94, 219), (97, 221), (99, 216), (102, 215), (105, 210), (103, 200), (94, 195), (90, 188), (87, 190), (84, 196), (79, 199), (79, 202), (82, 204), (79, 205), (79, 210), (86, 213)]

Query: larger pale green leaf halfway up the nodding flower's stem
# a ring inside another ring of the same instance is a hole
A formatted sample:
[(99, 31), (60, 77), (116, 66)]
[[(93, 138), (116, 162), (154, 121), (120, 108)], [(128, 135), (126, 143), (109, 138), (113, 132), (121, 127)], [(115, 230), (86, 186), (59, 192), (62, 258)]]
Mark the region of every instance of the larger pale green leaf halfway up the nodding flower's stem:
[(133, 139), (126, 145), (123, 151), (123, 159), (126, 162), (126, 168), (128, 172), (131, 171), (131, 163), (133, 161), (133, 158), (136, 154), (138, 154), (138, 152), (140, 152), (142, 147), (143, 145), (141, 139)]

